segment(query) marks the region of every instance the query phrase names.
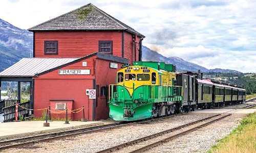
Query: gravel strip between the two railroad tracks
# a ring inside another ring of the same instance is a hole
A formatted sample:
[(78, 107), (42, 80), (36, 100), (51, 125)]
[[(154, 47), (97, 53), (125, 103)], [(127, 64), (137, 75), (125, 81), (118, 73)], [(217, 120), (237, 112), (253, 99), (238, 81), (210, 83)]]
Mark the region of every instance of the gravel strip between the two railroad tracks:
[(37, 143), (34, 148), (11, 148), (5, 152), (97, 152), (99, 150), (149, 136), (160, 131), (196, 121), (212, 114), (181, 114), (150, 123), (121, 127), (103, 132), (84, 134), (48, 143)]

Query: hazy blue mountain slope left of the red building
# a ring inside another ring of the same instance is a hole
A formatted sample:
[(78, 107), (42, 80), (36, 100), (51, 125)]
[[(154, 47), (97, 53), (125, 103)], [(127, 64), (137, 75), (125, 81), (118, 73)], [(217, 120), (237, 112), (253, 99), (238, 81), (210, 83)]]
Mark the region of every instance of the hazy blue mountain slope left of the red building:
[(0, 19), (0, 72), (33, 54), (33, 33)]

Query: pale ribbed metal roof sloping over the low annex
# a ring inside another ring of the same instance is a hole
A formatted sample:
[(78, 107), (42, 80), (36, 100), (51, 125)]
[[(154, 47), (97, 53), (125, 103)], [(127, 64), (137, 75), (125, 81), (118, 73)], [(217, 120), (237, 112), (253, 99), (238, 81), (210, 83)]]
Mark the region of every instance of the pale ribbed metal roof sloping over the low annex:
[(77, 59), (79, 58), (23, 58), (0, 72), (0, 77), (34, 77), (36, 74)]

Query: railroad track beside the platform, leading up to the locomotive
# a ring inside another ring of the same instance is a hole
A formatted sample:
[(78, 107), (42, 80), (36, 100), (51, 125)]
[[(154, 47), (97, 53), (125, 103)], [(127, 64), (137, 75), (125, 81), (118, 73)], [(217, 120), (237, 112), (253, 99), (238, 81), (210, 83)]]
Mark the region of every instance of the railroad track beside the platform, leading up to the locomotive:
[(51, 134), (42, 134), (42, 135), (37, 135), (37, 136), (5, 140), (5, 141), (0, 141), (0, 150), (4, 150), (4, 149), (8, 149), (8, 148), (24, 147), (24, 146), (33, 145), (38, 142), (47, 142), (47, 141), (51, 141), (51, 140), (62, 139), (65, 137), (71, 137), (71, 136), (80, 135), (80, 134), (100, 132), (102, 130), (110, 130), (110, 129), (114, 129), (114, 128), (118, 128), (118, 127), (122, 127), (122, 126), (143, 124), (146, 122), (151, 122), (153, 120), (165, 119), (165, 118), (169, 118), (169, 117), (173, 117), (173, 116), (174, 115), (170, 115), (170, 116), (159, 117), (159, 118), (154, 118), (154, 119), (147, 119), (147, 120), (142, 120), (142, 121), (135, 121), (135, 122), (118, 122), (118, 123), (99, 125), (99, 126), (93, 126), (93, 127), (84, 127), (84, 128), (77, 129), (77, 130), (69, 130), (69, 131), (56, 132), (56, 133), (51, 133)]

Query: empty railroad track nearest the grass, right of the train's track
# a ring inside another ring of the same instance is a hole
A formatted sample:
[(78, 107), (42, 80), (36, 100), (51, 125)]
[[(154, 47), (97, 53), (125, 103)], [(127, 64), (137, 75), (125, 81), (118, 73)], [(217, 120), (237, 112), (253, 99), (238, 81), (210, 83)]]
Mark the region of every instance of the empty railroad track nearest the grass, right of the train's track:
[[(178, 126), (178, 127), (174, 127), (173, 129), (169, 129), (169, 130), (166, 130), (163, 132), (159, 132), (157, 134), (153, 134), (151, 136), (143, 137), (143, 138), (140, 138), (140, 139), (137, 139), (134, 141), (130, 141), (130, 142), (126, 142), (126, 143), (123, 143), (123, 144), (120, 144), (117, 146), (113, 146), (111, 148), (101, 150), (99, 152), (100, 153), (103, 153), (103, 152), (104, 153), (105, 152), (127, 152), (127, 150), (131, 150), (130, 152), (142, 152), (149, 148), (155, 147), (159, 144), (165, 143), (166, 141), (172, 140), (179, 136), (185, 135), (189, 132), (195, 131), (203, 126), (206, 126), (213, 122), (221, 120), (231, 114), (227, 114), (224, 116), (220, 116), (220, 115), (222, 115), (222, 114), (217, 114), (217, 115), (210, 116), (210, 117), (207, 117), (204, 119), (200, 119), (200, 120), (197, 120), (194, 122), (190, 122), (190, 123)], [(218, 116), (220, 116), (220, 117), (218, 117)], [(210, 120), (214, 117), (217, 117), (217, 118)], [(210, 121), (207, 121), (207, 120), (210, 120)], [(202, 122), (205, 122), (205, 123), (202, 123)], [(177, 133), (177, 131), (178, 131), (178, 133)]]

